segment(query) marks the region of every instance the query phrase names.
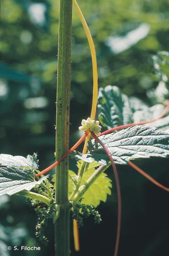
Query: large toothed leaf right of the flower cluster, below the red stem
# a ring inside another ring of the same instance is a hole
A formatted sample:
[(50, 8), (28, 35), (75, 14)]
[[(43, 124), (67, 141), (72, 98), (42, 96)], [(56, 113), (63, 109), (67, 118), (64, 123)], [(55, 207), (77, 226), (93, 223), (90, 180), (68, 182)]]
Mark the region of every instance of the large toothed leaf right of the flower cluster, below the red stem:
[[(120, 132), (103, 135), (100, 140), (108, 147), (116, 164), (128, 164), (132, 159), (169, 156), (169, 134), (156, 127), (131, 126)], [(89, 153), (77, 158), (86, 162), (109, 162), (103, 148), (91, 140)], [(89, 160), (88, 160), (89, 159)]]

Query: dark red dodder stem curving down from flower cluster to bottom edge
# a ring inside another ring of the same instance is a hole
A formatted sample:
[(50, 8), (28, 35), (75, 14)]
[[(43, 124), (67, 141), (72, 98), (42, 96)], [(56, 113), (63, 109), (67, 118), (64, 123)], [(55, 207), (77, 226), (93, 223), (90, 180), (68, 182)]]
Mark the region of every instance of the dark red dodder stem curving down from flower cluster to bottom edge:
[(93, 139), (99, 142), (101, 146), (104, 148), (108, 158), (110, 159), (110, 162), (113, 167), (114, 172), (114, 178), (116, 183), (116, 189), (117, 189), (117, 203), (118, 203), (118, 212), (117, 212), (117, 234), (116, 234), (116, 242), (115, 242), (115, 250), (114, 250), (114, 256), (117, 256), (118, 253), (118, 246), (119, 246), (119, 238), (120, 238), (120, 229), (121, 229), (121, 219), (122, 219), (122, 197), (121, 197), (121, 191), (120, 191), (120, 184), (119, 184), (119, 178), (117, 173), (117, 168), (114, 163), (114, 160), (108, 150), (108, 148), (105, 146), (105, 144), (93, 133), (90, 132)]

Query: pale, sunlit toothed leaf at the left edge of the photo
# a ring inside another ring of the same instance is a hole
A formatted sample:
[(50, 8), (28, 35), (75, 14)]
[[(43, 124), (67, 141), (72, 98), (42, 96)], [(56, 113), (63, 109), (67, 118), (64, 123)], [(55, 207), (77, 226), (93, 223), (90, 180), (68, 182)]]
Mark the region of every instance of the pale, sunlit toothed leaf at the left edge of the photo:
[(31, 190), (46, 177), (35, 181), (35, 169), (38, 168), (37, 158), (28, 155), (12, 156), (0, 154), (0, 196), (11, 196), (22, 190)]

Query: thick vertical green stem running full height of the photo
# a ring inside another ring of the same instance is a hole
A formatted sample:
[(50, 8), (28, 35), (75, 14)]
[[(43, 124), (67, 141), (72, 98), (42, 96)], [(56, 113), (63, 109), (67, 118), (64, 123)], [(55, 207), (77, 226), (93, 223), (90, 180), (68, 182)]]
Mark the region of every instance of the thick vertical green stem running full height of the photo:
[[(56, 159), (69, 148), (69, 96), (72, 1), (59, 0)], [(68, 157), (56, 167), (56, 199), (60, 209), (55, 223), (55, 256), (69, 256)]]

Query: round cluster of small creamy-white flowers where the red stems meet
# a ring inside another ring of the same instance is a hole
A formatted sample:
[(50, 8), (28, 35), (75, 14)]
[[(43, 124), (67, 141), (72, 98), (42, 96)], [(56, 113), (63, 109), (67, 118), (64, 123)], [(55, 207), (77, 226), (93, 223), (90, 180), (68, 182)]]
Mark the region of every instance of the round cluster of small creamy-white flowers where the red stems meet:
[(102, 126), (99, 125), (99, 121), (93, 120), (88, 117), (86, 120), (82, 120), (82, 126), (79, 127), (80, 131), (90, 131), (93, 132), (96, 136), (100, 136)]

